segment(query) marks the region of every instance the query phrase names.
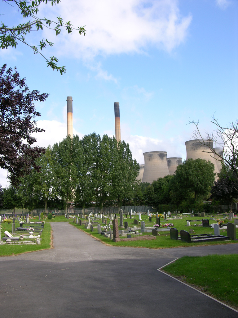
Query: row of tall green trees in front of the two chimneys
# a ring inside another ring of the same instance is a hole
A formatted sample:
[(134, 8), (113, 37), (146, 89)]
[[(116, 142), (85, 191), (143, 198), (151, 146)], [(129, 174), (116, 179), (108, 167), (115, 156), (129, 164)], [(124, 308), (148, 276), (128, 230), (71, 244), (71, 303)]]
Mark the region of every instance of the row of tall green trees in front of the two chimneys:
[(70, 203), (84, 209), (92, 202), (102, 209), (130, 201), (138, 182), (139, 164), (132, 159), (129, 144), (115, 137), (96, 133), (82, 139), (67, 136), (36, 159), (29, 174), (2, 190), (3, 207), (22, 207), (30, 211), (44, 203), (67, 211)]

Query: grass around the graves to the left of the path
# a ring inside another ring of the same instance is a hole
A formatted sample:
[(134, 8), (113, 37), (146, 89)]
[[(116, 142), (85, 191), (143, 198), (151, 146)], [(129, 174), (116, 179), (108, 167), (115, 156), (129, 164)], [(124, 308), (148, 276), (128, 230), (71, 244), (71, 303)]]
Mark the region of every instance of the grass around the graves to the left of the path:
[[(11, 233), (11, 223), (2, 223), (2, 229), (1, 229), (1, 237), (4, 237), (5, 231), (8, 231)], [(19, 222), (16, 221), (16, 227), (19, 226)], [(17, 235), (21, 235), (22, 232), (18, 232)], [(17, 255), (17, 254), (22, 254), (26, 252), (35, 252), (39, 250), (44, 250), (44, 249), (50, 249), (52, 248), (51, 246), (51, 226), (49, 223), (45, 223), (44, 225), (44, 230), (41, 235), (41, 244), (34, 244), (34, 245), (23, 245), (23, 244), (4, 244), (0, 245), (0, 257), (1, 256), (11, 256), (11, 255)]]

